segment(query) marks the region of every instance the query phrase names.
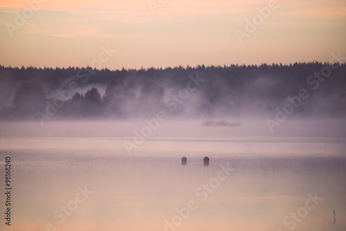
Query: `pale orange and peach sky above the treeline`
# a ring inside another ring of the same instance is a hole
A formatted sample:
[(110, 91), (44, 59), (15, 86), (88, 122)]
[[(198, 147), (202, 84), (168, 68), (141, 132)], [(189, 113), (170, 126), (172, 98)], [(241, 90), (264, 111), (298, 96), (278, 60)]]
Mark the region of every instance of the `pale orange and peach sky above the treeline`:
[(1, 0), (0, 25), (2, 66), (289, 64), (346, 54), (345, 0)]

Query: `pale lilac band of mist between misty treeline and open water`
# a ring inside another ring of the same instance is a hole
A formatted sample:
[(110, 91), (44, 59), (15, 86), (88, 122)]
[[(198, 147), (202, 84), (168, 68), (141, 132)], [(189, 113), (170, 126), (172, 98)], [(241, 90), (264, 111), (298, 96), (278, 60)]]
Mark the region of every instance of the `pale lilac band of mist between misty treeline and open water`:
[[(167, 120), (149, 129), (150, 138), (235, 138), (235, 137), (325, 137), (345, 138), (345, 120), (287, 120), (274, 132), (265, 119), (238, 120), (237, 127), (203, 127), (203, 120)], [(118, 137), (132, 139), (135, 131), (149, 127), (145, 120), (51, 121), (41, 126), (37, 121), (0, 122), (1, 137)], [(143, 130), (144, 131), (144, 130)], [(144, 132), (147, 134), (147, 131)]]

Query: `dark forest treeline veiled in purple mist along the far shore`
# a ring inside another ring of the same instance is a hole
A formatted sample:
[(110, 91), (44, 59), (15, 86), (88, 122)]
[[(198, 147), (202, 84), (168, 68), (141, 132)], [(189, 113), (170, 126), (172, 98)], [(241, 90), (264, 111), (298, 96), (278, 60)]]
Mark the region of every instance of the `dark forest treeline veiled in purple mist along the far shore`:
[[(0, 118), (37, 119), (39, 112), (39, 116), (55, 119), (123, 120), (148, 118), (160, 110), (185, 118), (256, 117), (275, 114), (300, 89), (307, 89), (309, 98), (299, 102), (292, 116), (340, 118), (346, 115), (346, 64), (324, 68), (329, 65), (202, 65), (116, 71), (0, 66)], [(322, 70), (331, 74), (317, 77)], [(195, 83), (197, 75), (201, 82)]]

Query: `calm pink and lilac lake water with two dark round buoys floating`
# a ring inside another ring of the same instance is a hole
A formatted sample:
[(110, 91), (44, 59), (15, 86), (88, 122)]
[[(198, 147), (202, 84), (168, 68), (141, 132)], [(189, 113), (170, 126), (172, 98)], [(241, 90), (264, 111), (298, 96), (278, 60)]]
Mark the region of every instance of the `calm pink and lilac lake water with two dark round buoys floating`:
[(344, 138), (153, 138), (131, 155), (124, 140), (2, 137), (0, 230), (346, 230)]

